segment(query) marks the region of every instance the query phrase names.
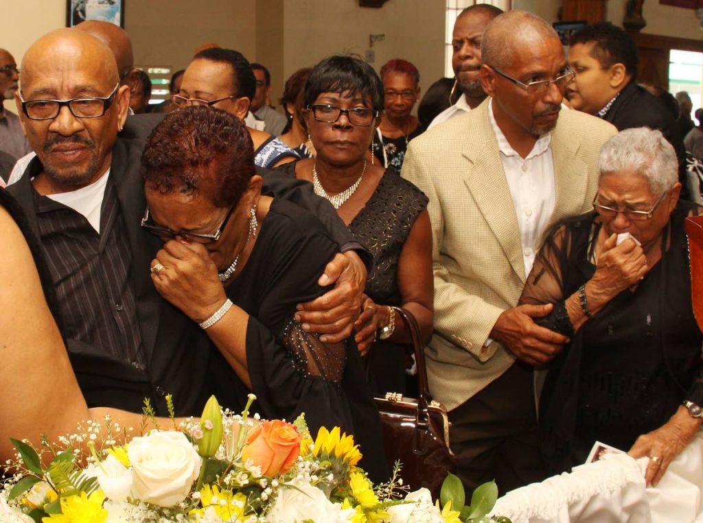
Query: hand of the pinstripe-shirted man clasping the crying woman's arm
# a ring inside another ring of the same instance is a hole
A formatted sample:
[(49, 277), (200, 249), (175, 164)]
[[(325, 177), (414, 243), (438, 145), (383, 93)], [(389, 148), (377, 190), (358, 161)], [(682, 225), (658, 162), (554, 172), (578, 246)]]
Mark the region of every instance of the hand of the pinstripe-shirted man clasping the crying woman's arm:
[(321, 333), (323, 343), (339, 343), (352, 335), (359, 317), (366, 267), (353, 251), (337, 254), (325, 267), (318, 284), (335, 284), (335, 288), (316, 300), (298, 305), (295, 319), (304, 331)]

